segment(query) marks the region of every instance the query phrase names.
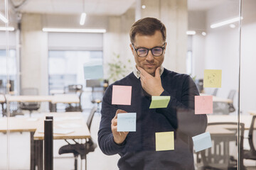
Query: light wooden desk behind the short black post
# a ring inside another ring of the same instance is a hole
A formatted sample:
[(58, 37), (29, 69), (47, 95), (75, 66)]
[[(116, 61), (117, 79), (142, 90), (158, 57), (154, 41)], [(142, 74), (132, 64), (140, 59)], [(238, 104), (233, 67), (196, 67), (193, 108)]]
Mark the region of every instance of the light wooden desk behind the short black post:
[(72, 128), (74, 132), (66, 135), (53, 134), (54, 140), (90, 138), (90, 131), (80, 112), (43, 113), (43, 115), (43, 118), (0, 118), (0, 132), (7, 132), (7, 128), (9, 132), (31, 132), (31, 169), (35, 169), (36, 165), (38, 165), (38, 170), (43, 169), (43, 133), (40, 131), (43, 130), (46, 115), (53, 115), (55, 128), (68, 123), (76, 125)]

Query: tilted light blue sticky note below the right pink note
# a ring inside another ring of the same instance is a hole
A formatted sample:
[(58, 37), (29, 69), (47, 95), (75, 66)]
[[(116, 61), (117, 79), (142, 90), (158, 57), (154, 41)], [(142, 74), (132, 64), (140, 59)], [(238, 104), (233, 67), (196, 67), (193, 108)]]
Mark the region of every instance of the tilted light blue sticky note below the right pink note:
[(200, 135), (196, 135), (192, 137), (192, 140), (196, 152), (212, 147), (210, 132), (205, 132)]

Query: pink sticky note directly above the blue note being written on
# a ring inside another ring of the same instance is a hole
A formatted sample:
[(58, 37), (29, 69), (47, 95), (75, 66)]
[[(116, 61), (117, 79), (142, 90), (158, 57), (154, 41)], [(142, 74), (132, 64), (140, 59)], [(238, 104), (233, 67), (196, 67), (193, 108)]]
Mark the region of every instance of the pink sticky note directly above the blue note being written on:
[(131, 105), (132, 86), (113, 85), (112, 104)]

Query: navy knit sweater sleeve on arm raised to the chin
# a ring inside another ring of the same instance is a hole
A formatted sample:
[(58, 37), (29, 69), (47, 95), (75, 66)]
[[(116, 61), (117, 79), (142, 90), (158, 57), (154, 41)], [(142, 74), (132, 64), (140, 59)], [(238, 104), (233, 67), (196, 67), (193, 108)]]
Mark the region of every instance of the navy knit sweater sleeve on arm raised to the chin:
[(161, 96), (171, 96), (167, 108), (158, 108), (156, 112), (164, 114), (179, 132), (193, 137), (206, 131), (207, 116), (195, 115), (194, 98), (198, 96), (198, 89), (196, 84), (190, 76), (187, 76), (182, 85), (181, 100), (165, 91)]

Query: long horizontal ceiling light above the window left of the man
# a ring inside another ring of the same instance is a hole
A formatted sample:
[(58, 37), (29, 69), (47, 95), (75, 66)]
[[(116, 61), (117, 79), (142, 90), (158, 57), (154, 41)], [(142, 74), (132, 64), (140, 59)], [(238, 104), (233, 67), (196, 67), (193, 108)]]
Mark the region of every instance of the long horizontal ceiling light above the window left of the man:
[(105, 29), (43, 28), (44, 32), (58, 33), (106, 33)]

